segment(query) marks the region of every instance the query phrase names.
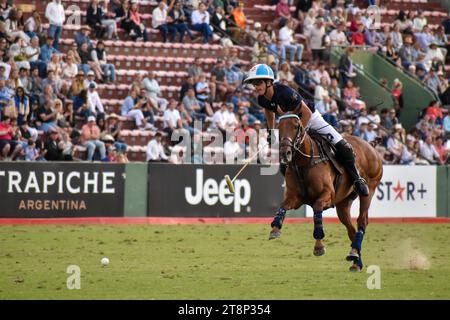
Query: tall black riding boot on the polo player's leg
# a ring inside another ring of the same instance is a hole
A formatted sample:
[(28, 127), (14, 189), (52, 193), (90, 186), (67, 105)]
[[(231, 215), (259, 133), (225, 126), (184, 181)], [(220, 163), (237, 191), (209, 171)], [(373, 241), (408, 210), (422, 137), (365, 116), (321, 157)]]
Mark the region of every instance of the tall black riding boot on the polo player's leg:
[(353, 148), (350, 143), (345, 140), (341, 140), (335, 145), (336, 148), (336, 158), (345, 167), (350, 177), (354, 181), (354, 186), (356, 192), (360, 196), (368, 196), (369, 188), (367, 187), (367, 182), (364, 180), (358, 172), (355, 165), (355, 154), (353, 153)]

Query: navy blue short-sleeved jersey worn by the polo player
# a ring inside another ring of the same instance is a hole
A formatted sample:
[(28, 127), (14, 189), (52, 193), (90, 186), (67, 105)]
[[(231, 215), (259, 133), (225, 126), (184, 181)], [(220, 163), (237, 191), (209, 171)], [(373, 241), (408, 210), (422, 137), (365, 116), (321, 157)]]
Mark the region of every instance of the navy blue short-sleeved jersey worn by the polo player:
[(279, 106), (283, 112), (289, 112), (294, 111), (304, 101), (311, 109), (311, 112), (315, 111), (313, 104), (307, 103), (297, 91), (289, 86), (275, 82), (273, 84), (273, 92), (272, 100), (267, 99), (265, 96), (258, 97), (258, 104), (264, 109), (277, 113), (277, 106)]

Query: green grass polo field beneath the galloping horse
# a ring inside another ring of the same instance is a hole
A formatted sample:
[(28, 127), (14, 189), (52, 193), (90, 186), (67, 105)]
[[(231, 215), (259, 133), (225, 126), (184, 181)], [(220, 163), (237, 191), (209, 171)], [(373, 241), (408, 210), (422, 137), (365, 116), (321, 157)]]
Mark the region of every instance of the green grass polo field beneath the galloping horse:
[[(350, 273), (342, 225), (326, 225), (327, 253), (312, 255), (312, 225), (0, 227), (0, 299), (442, 299), (450, 298), (450, 224), (372, 224), (365, 266)], [(410, 259), (423, 255), (423, 270)], [(102, 267), (106, 256), (111, 263)], [(69, 290), (69, 265), (81, 289)]]

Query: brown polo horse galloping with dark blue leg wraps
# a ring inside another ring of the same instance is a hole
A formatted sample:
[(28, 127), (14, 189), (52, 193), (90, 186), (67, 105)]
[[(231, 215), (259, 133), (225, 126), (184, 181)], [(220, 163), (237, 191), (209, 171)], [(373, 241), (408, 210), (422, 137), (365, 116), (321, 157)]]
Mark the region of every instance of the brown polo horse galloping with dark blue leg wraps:
[(361, 176), (367, 181), (369, 195), (360, 197), (360, 211), (356, 230), (350, 218), (350, 208), (356, 199), (353, 190), (353, 181), (345, 172), (335, 190), (334, 182), (338, 174), (329, 161), (313, 163), (313, 158), (319, 154), (317, 143), (304, 130), (299, 111), (288, 113), (280, 118), (280, 162), (287, 164), (285, 174), (286, 191), (284, 200), (272, 222), (272, 231), (269, 239), (281, 235), (281, 226), (286, 210), (297, 209), (303, 204), (310, 205), (314, 211), (314, 232), (316, 240), (314, 255), (325, 254), (323, 238), (325, 233), (322, 225), (322, 212), (336, 206), (339, 220), (347, 228), (348, 237), (352, 242), (352, 249), (347, 255), (348, 261), (353, 261), (350, 271), (361, 271), (361, 245), (365, 230), (369, 223), (368, 212), (376, 187), (383, 175), (383, 165), (378, 152), (366, 141), (354, 137), (344, 137), (356, 154), (357, 167)]

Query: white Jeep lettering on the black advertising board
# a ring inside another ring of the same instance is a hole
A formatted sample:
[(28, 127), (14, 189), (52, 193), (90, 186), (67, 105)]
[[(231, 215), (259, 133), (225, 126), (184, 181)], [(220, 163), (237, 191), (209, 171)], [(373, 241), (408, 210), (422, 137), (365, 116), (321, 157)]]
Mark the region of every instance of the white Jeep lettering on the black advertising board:
[(195, 193), (193, 193), (192, 187), (184, 189), (186, 201), (190, 205), (198, 205), (204, 200), (208, 206), (214, 206), (220, 201), (224, 206), (234, 204), (235, 213), (241, 212), (241, 207), (249, 204), (252, 192), (250, 183), (246, 179), (234, 182), (234, 194), (228, 190), (225, 179), (222, 179), (220, 183), (211, 178), (203, 182), (203, 169), (196, 170), (195, 188)]

